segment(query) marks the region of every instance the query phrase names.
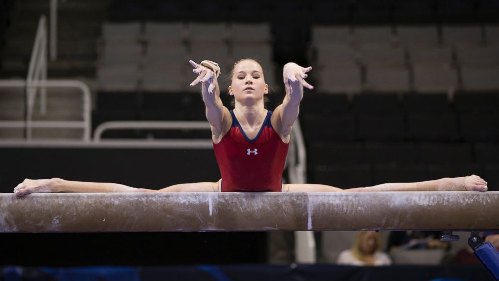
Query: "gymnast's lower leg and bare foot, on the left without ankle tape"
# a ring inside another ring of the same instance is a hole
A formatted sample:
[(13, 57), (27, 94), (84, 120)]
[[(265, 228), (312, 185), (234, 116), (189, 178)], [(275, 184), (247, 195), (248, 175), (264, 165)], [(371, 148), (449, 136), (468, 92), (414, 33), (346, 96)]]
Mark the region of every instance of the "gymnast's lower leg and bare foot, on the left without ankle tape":
[(158, 192), (157, 190), (134, 188), (111, 182), (69, 181), (60, 178), (25, 179), (14, 188), (17, 196), (45, 192)]

